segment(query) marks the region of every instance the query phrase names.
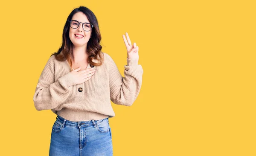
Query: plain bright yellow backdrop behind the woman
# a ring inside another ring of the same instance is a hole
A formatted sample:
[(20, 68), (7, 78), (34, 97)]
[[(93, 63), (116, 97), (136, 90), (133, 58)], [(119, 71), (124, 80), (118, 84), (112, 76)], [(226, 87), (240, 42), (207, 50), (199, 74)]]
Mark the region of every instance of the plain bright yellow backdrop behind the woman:
[(56, 115), (35, 88), (79, 6), (124, 76), (129, 33), (143, 84), (110, 119), (114, 156), (256, 155), (256, 3), (251, 0), (1, 1), (1, 156), (47, 156)]

